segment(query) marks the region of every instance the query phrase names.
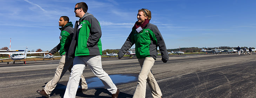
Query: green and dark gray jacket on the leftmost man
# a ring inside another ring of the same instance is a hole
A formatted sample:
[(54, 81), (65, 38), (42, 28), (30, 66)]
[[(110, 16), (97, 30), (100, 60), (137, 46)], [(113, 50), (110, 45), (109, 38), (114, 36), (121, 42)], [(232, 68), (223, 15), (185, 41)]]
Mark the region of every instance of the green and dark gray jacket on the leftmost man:
[(54, 47), (52, 50), (50, 50), (51, 54), (54, 54), (55, 52), (60, 50), (60, 55), (66, 55), (66, 52), (68, 52), (69, 45), (71, 43), (71, 38), (73, 37), (74, 28), (72, 22), (68, 22), (65, 26), (62, 28), (59, 28), (61, 30), (60, 32), (60, 43)]

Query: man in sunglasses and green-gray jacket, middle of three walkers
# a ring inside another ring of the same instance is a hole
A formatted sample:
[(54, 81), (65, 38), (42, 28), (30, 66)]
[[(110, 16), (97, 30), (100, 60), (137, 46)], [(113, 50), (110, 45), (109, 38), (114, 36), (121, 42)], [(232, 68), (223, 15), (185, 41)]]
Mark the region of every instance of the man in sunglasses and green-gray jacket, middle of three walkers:
[(74, 36), (68, 51), (68, 56), (75, 56), (75, 58), (64, 98), (75, 98), (75, 89), (78, 88), (79, 79), (87, 65), (94, 75), (100, 78), (107, 90), (112, 94), (112, 98), (117, 98), (119, 90), (108, 74), (102, 69), (101, 28), (99, 21), (92, 14), (88, 13), (87, 8), (84, 7), (87, 7), (85, 2), (76, 3), (75, 5), (75, 16), (80, 19), (76, 21)]

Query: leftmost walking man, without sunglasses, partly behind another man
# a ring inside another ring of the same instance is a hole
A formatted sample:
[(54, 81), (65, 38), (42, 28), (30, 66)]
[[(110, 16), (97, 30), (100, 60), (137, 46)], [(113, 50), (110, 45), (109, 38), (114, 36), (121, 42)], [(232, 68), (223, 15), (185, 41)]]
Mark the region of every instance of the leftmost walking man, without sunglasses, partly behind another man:
[[(60, 50), (60, 62), (59, 65), (56, 68), (55, 75), (52, 80), (50, 80), (44, 87), (43, 90), (37, 90), (40, 95), (45, 97), (50, 97), (50, 93), (55, 89), (57, 83), (60, 81), (61, 77), (65, 74), (67, 70), (71, 72), (71, 68), (73, 66), (73, 59), (74, 58), (68, 58), (67, 52), (69, 49), (69, 45), (71, 42), (71, 38), (73, 37), (74, 29), (72, 22), (69, 22), (69, 18), (67, 16), (61, 16), (59, 20), (59, 26), (61, 27), (61, 33), (60, 33), (60, 43), (54, 47), (52, 50), (50, 50), (49, 55), (53, 55), (55, 52)], [(79, 92), (81, 91), (87, 91), (87, 83), (85, 81), (85, 77), (81, 75), (81, 83), (80, 87), (78, 89)]]

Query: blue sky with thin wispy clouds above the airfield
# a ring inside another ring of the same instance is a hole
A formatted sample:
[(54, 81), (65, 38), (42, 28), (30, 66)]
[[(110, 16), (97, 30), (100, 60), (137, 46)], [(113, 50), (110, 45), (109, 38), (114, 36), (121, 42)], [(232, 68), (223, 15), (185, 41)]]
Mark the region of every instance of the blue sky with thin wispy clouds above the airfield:
[(256, 0), (1, 0), (0, 48), (51, 50), (59, 43), (59, 18), (73, 23), (74, 7), (86, 2), (100, 22), (102, 49), (120, 49), (137, 21), (151, 11), (167, 49), (256, 47)]

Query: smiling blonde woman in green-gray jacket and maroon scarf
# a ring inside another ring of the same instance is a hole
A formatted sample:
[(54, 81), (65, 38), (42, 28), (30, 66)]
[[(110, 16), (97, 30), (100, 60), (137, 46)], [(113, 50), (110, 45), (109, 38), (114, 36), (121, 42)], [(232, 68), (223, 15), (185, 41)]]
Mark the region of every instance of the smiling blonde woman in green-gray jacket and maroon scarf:
[(156, 83), (151, 68), (156, 60), (157, 47), (161, 51), (162, 61), (164, 63), (168, 61), (169, 57), (166, 45), (158, 28), (149, 23), (151, 19), (150, 10), (143, 8), (138, 10), (137, 19), (138, 21), (136, 21), (132, 28), (132, 32), (118, 53), (118, 58), (121, 59), (127, 50), (135, 44), (135, 54), (140, 63), (141, 71), (133, 98), (145, 98), (147, 82), (152, 96), (154, 98), (161, 98), (162, 92)]

